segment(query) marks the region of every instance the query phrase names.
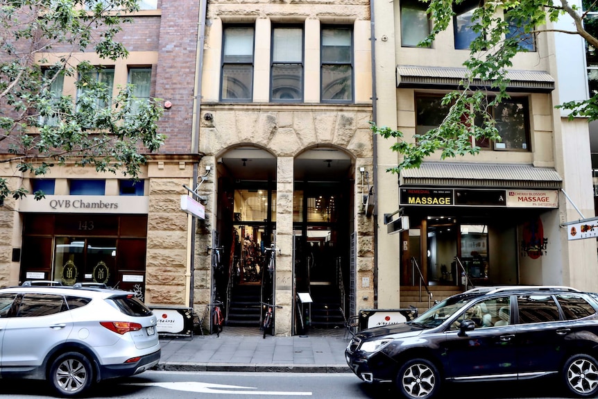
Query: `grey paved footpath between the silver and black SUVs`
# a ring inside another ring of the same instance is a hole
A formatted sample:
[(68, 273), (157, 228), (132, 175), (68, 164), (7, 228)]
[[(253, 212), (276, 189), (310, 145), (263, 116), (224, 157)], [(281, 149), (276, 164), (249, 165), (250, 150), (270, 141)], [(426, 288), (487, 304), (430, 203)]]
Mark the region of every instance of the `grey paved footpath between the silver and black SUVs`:
[(343, 332), (318, 336), (262, 338), (257, 328), (239, 333), (224, 328), (191, 338), (160, 337), (162, 356), (156, 370), (278, 371), (350, 373), (345, 362), (349, 341)]

